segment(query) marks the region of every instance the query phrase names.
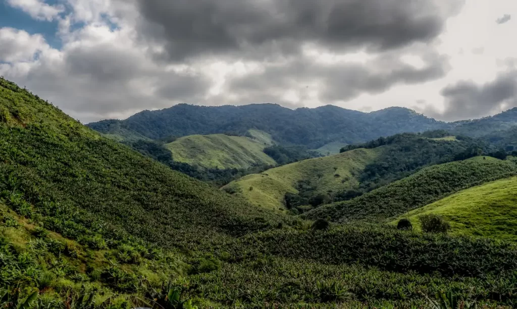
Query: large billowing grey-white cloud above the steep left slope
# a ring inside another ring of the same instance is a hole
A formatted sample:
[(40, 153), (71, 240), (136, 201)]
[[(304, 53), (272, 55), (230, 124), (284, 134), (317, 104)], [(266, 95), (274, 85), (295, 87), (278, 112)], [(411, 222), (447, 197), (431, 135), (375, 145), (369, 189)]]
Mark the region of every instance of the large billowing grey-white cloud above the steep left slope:
[[(27, 34), (19, 31), (18, 35)], [(0, 75), (26, 85), (83, 121), (202, 101), (208, 88), (199, 72), (164, 69), (146, 58), (145, 46), (135, 45), (124, 31), (93, 25), (75, 34), (63, 50), (47, 48), (32, 62), (0, 66)]]

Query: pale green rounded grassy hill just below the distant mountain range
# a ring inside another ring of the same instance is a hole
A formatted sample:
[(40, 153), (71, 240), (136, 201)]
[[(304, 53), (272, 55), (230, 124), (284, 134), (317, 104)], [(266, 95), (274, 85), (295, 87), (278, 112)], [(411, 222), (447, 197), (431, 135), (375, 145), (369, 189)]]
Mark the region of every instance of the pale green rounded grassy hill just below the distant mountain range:
[[(267, 136), (261, 136), (262, 141)], [(244, 136), (224, 134), (190, 135), (164, 145), (175, 161), (204, 168), (245, 169), (255, 165), (276, 165), (263, 150), (266, 144)]]

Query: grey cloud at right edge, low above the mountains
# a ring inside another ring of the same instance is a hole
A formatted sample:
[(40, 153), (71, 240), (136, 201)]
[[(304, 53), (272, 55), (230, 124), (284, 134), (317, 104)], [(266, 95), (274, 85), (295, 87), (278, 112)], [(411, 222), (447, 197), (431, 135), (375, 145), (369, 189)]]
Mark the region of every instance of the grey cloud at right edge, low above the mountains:
[(445, 110), (428, 108), (425, 113), (443, 120), (474, 119), (517, 106), (517, 71), (509, 70), (482, 85), (470, 80), (445, 87), (441, 94)]

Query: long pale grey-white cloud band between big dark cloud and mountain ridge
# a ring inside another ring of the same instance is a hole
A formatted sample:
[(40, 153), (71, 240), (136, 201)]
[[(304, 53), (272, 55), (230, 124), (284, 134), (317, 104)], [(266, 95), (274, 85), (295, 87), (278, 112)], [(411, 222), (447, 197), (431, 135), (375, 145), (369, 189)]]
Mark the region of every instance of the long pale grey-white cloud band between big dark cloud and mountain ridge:
[[(361, 93), (381, 93), (398, 84), (417, 84), (445, 75), (447, 58), (433, 53), (423, 66), (404, 63), (401, 55), (388, 53), (362, 63), (353, 61), (318, 62), (308, 55), (267, 63), (247, 74), (232, 78), (225, 102), (278, 102), (297, 106), (312, 102), (346, 102)], [(402, 54), (403, 55), (403, 54)], [(289, 91), (287, 91), (287, 89)], [(298, 106), (297, 106), (298, 107)]]

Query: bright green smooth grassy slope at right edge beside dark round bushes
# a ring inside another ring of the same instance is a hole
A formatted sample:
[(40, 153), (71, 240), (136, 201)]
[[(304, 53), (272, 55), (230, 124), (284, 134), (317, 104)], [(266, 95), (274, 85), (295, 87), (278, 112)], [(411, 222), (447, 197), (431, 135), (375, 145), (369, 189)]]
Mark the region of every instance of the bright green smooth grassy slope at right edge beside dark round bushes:
[(517, 177), (460, 191), (413, 210), (407, 217), (420, 229), (418, 216), (431, 213), (449, 220), (453, 234), (517, 241)]

